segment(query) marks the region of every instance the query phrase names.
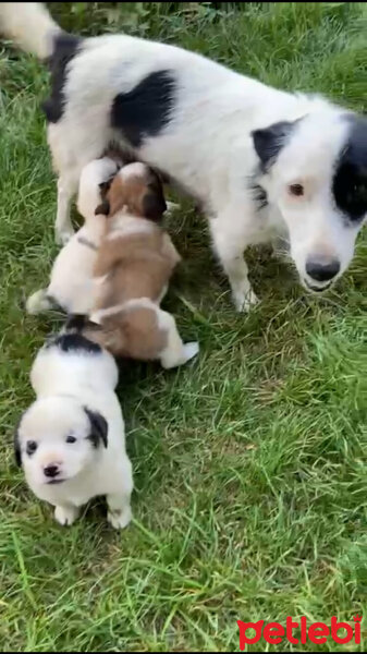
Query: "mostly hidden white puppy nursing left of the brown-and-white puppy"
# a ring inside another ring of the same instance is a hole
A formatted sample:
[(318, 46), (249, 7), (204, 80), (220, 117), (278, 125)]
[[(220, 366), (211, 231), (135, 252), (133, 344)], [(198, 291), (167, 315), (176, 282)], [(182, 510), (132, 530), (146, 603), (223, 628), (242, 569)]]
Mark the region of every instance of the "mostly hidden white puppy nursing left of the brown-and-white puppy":
[(93, 269), (106, 225), (95, 215), (100, 204), (99, 185), (118, 171), (118, 164), (109, 157), (96, 159), (82, 170), (77, 209), (85, 225), (59, 252), (47, 289), (40, 289), (27, 300), (26, 308), (37, 314), (54, 306), (68, 314), (86, 314), (93, 305)]

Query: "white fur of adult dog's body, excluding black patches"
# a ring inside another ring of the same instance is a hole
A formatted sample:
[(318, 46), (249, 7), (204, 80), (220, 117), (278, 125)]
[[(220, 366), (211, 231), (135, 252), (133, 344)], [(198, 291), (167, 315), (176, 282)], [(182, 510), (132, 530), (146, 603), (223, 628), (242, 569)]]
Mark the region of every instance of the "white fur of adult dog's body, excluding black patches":
[[(47, 27), (45, 39), (48, 34)], [(21, 29), (17, 39), (26, 41)], [(237, 308), (256, 302), (244, 250), (279, 234), (290, 239), (303, 282), (307, 282), (305, 259), (325, 247), (340, 258), (341, 275), (360, 229), (360, 222), (345, 227), (330, 194), (338, 148), (345, 137), (345, 110), (319, 97), (271, 88), (199, 55), (124, 35), (87, 39), (69, 65), (65, 110), (48, 129), (59, 173), (59, 232), (71, 228), (69, 204), (83, 166), (100, 156), (111, 140), (123, 145), (121, 134), (110, 126), (113, 98), (149, 73), (167, 69), (176, 84), (172, 119), (157, 136), (145, 140), (136, 154), (168, 171), (201, 201)], [(262, 180), (270, 204), (259, 211), (249, 187), (259, 165), (252, 132), (303, 117), (294, 138)], [(294, 178), (306, 180), (313, 189), (310, 202), (298, 203), (297, 208), (284, 196)], [(298, 226), (305, 216), (305, 227)]]

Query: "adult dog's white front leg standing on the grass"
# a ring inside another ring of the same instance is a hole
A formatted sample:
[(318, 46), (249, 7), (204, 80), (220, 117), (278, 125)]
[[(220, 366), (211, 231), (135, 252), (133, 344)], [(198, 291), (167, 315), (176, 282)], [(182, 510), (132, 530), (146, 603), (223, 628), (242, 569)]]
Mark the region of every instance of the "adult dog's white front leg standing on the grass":
[(225, 211), (211, 218), (210, 230), (215, 251), (231, 284), (235, 307), (240, 312), (248, 311), (258, 299), (248, 280), (244, 259), (248, 240), (243, 223), (238, 222), (238, 214)]

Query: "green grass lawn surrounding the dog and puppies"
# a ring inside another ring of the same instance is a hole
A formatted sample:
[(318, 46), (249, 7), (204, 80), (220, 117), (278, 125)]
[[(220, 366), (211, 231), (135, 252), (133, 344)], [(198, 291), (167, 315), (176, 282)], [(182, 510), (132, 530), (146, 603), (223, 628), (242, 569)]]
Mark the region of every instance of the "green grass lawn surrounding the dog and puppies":
[[(229, 3), (225, 13), (136, 4), (137, 19), (131, 7), (57, 10), (85, 32), (121, 23), (267, 83), (363, 108), (363, 3)], [(14, 424), (33, 399), (30, 363), (59, 325), (22, 308), (57, 251), (39, 111), (47, 75), (5, 47), (0, 78), (0, 650), (233, 651), (238, 618), (330, 623), (367, 614), (366, 237), (320, 300), (304, 294), (288, 265), (253, 253), (262, 302), (238, 316), (204, 222), (189, 206), (176, 216), (184, 264), (168, 306), (184, 336), (200, 341), (200, 358), (179, 372), (122, 371), (134, 523), (112, 532), (95, 502), (60, 528), (12, 456)]]

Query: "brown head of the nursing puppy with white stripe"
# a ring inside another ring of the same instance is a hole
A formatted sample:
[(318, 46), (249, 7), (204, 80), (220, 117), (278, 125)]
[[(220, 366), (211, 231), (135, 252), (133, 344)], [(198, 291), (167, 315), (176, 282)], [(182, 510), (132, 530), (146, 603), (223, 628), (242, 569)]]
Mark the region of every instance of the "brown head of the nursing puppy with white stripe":
[(100, 184), (100, 192), (102, 202), (96, 214), (114, 216), (124, 210), (158, 222), (167, 209), (161, 181), (145, 164), (124, 166), (112, 180)]

